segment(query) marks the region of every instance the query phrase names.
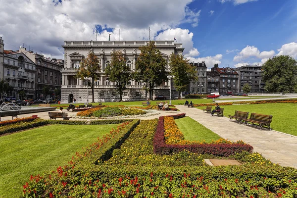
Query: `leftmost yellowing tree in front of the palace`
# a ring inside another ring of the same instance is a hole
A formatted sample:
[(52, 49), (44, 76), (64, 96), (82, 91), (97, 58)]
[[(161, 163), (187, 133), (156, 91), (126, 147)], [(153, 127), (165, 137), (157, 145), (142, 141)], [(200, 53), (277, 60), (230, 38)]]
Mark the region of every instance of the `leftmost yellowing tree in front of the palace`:
[(92, 89), (92, 102), (95, 102), (94, 82), (96, 80), (99, 80), (100, 74), (98, 72), (100, 71), (100, 68), (101, 68), (100, 60), (97, 57), (97, 55), (95, 55), (94, 50), (91, 49), (89, 51), (88, 57), (84, 58), (81, 61), (80, 67), (76, 73), (76, 78), (80, 78), (82, 80), (84, 80), (85, 77), (87, 77), (87, 78), (91, 77), (91, 82), (89, 83), (89, 81), (88, 81), (88, 86), (90, 85), (90, 87)]

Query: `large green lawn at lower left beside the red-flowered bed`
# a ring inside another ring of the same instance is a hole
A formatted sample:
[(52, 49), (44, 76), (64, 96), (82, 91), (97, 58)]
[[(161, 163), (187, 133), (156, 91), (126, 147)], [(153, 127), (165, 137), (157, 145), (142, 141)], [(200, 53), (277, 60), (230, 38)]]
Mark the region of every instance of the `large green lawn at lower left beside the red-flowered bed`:
[(49, 125), (0, 137), (0, 198), (21, 197), (30, 175), (66, 165), (76, 151), (117, 126)]

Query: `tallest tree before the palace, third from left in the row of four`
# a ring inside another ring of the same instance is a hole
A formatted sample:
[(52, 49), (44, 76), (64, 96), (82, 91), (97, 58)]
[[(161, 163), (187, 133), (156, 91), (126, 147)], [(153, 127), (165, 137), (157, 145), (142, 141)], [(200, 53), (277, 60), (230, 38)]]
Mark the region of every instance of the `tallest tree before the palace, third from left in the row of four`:
[(136, 61), (135, 80), (145, 83), (145, 89), (149, 91), (152, 99), (153, 89), (167, 81), (166, 60), (161, 52), (156, 49), (154, 42), (150, 41), (147, 46), (139, 48), (141, 53)]

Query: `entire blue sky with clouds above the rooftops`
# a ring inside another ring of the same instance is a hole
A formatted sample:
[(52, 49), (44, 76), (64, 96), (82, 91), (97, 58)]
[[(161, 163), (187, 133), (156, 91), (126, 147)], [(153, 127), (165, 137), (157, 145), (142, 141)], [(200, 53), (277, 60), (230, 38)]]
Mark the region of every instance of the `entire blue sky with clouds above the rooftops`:
[[(119, 35), (119, 29), (121, 34)], [(174, 40), (208, 68), (297, 59), (297, 0), (0, 0), (4, 49), (63, 58), (64, 41)]]

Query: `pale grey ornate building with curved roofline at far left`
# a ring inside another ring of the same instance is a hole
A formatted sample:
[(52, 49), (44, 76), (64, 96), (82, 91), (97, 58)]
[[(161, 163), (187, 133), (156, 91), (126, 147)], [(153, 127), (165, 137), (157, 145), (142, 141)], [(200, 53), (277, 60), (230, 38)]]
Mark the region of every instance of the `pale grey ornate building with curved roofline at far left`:
[(23, 52), (3, 50), (3, 79), (14, 89), (6, 93), (12, 98), (20, 98), (18, 92), (25, 91), (25, 99), (34, 99), (36, 66)]

